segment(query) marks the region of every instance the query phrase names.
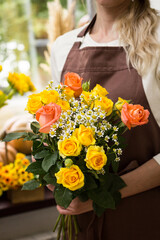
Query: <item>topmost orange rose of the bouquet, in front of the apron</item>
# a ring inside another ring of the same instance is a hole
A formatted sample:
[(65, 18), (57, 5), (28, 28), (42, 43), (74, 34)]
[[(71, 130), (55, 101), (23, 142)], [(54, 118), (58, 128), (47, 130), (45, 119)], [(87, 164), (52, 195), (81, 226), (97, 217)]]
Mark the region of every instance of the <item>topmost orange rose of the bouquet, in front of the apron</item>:
[(65, 74), (65, 81), (64, 84), (70, 87), (74, 91), (74, 96), (79, 97), (82, 93), (82, 80), (77, 73), (66, 73)]

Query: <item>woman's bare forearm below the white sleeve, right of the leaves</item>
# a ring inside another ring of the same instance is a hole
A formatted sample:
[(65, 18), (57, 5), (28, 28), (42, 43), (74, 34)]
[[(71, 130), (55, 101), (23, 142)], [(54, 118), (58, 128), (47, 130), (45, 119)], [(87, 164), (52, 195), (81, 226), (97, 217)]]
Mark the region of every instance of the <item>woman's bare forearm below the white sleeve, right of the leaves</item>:
[(160, 185), (160, 165), (151, 159), (121, 178), (127, 185), (120, 190), (122, 198), (129, 197)]

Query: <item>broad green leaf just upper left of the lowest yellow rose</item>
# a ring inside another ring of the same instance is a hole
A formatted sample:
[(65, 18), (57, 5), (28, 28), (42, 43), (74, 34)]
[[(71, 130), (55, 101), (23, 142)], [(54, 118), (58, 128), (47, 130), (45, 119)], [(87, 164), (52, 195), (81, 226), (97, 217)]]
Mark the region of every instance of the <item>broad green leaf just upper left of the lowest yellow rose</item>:
[(49, 153), (42, 161), (42, 168), (47, 172), (57, 161), (57, 152)]

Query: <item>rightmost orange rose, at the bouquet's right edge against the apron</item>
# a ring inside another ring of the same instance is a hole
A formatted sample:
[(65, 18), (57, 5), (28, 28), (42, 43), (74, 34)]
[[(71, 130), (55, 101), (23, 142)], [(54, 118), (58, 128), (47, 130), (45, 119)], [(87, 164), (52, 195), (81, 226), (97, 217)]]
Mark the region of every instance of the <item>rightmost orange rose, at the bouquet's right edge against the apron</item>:
[(122, 122), (129, 128), (148, 123), (149, 111), (141, 105), (125, 103), (121, 111)]

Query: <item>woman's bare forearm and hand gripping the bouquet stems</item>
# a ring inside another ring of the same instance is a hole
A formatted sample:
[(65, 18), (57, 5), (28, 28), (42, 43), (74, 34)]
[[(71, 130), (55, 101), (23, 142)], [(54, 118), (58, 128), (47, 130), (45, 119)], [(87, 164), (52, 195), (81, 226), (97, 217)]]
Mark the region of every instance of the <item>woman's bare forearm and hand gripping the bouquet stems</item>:
[[(135, 170), (122, 175), (121, 178), (127, 184), (120, 191), (122, 198), (129, 197), (160, 185), (160, 165), (151, 159)], [(92, 209), (91, 200), (81, 202), (78, 198), (75, 198), (67, 209), (57, 206), (59, 213), (67, 215), (77, 215)]]

